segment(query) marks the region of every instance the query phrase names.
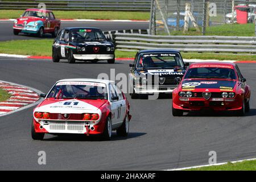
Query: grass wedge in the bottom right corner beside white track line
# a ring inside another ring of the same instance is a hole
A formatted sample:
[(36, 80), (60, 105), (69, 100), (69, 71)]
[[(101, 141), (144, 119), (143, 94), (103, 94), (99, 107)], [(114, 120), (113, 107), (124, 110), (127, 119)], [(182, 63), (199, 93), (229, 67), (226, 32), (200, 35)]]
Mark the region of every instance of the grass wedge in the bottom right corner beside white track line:
[(256, 171), (256, 160), (187, 169), (187, 171)]

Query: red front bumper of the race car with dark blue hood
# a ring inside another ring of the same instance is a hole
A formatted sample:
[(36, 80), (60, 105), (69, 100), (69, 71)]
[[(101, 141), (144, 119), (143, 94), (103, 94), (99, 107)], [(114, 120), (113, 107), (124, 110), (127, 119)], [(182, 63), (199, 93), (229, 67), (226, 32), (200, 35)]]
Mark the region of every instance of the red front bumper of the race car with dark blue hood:
[(180, 101), (179, 97), (174, 98), (173, 107), (184, 111), (197, 110), (240, 110), (242, 109), (242, 100), (240, 98), (189, 98), (188, 101)]

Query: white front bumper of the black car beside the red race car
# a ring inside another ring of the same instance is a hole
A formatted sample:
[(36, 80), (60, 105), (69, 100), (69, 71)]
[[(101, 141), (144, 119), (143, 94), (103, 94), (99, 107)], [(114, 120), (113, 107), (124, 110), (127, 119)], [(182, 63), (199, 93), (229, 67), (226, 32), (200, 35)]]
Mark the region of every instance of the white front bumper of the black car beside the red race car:
[(172, 93), (177, 87), (175, 86), (135, 86), (134, 93), (137, 94), (154, 94), (154, 93)]

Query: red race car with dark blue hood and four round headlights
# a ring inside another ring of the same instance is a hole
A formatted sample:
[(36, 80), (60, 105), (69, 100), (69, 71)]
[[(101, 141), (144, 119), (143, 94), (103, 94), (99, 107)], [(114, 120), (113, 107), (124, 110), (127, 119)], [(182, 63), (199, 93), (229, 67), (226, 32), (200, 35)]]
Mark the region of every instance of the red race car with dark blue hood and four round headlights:
[(208, 62), (189, 66), (172, 93), (172, 115), (203, 109), (236, 111), (238, 115), (250, 110), (250, 86), (236, 64)]

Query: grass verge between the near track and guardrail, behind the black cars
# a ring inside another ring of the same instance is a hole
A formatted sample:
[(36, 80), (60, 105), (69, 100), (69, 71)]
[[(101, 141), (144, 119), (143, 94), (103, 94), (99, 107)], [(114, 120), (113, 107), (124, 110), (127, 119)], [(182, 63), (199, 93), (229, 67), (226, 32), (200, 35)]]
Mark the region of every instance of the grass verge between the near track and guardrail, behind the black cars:
[[(38, 40), (11, 40), (0, 42), (0, 53), (30, 56), (51, 56), (53, 39)], [(14, 49), (15, 48), (15, 49)], [(136, 54), (126, 51), (115, 51), (115, 57), (134, 57)], [(216, 59), (216, 60), (253, 60), (256, 55), (221, 54), (221, 53), (181, 53), (184, 59)]]

